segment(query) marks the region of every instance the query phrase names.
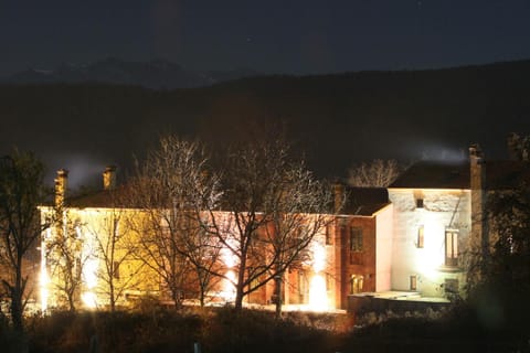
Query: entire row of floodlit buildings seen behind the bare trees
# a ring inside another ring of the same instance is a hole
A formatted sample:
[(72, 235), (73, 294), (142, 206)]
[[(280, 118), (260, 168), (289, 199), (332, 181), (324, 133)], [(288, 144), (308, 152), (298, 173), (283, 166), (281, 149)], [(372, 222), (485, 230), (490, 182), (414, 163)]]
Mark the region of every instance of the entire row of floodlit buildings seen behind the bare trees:
[[(108, 232), (108, 220), (116, 212), (138, 213), (135, 218), (141, 222), (141, 210), (113, 203), (114, 173), (113, 169), (104, 172), (102, 192), (71, 202), (64, 197), (67, 172), (57, 174), (55, 202), (64, 204), (61, 210), (76, 232), (72, 246), (77, 246), (77, 257), (83, 263), (77, 299), (85, 307), (108, 304), (100, 295), (105, 291), (99, 276), (104, 263), (94, 250), (94, 235)], [(468, 162), (422, 161), (409, 168), (388, 189), (335, 185), (337, 208), (326, 215), (329, 222), (308, 247), (310, 259), (287, 271), (282, 302), (299, 309), (335, 310), (351, 309), (352, 298), (448, 301), (462, 295), (466, 285), (466, 254), (477, 247), (485, 250), (488, 243), (487, 191), (515, 186), (520, 173), (516, 162), (485, 162), (479, 148), (471, 147)], [(511, 184), (507, 184), (507, 180)], [(340, 202), (340, 195), (347, 195), (346, 204)], [(41, 211), (43, 220), (56, 212), (53, 206), (42, 206)], [(63, 226), (66, 223), (63, 222)], [(113, 227), (124, 233), (123, 242), (138, 236), (126, 234), (126, 226), (119, 222)], [(57, 274), (62, 264), (52, 258), (53, 253), (46, 252), (60, 235), (56, 227), (43, 234), (43, 309), (64, 301), (56, 290), (61, 286)], [(234, 259), (223, 255), (221, 261), (225, 276), (235, 278)], [(134, 286), (124, 287), (118, 303), (127, 306), (131, 298), (144, 295), (163, 299), (160, 280), (148, 268), (139, 270), (139, 266), (138, 260), (131, 259), (115, 269), (118, 281), (139, 279)], [(193, 290), (183, 296), (193, 297)], [(209, 292), (209, 298), (218, 303), (230, 302), (234, 296), (234, 288), (226, 280)], [(248, 304), (273, 303), (274, 281), (259, 287), (245, 300)]]

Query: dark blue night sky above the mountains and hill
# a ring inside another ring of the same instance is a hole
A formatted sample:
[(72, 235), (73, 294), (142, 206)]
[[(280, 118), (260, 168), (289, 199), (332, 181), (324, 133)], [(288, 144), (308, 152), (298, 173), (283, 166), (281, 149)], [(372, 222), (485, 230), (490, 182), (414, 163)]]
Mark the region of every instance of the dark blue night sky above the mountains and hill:
[(262, 73), (530, 58), (529, 0), (0, 0), (0, 76), (108, 56)]

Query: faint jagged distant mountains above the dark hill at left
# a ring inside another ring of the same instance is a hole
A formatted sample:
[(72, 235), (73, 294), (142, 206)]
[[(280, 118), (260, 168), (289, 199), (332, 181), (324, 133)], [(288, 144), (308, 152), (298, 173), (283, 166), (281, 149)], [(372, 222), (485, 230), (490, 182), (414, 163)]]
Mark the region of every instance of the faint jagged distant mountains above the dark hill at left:
[(0, 82), (7, 84), (92, 82), (174, 89), (203, 87), (255, 75), (257, 73), (251, 69), (194, 72), (166, 60), (127, 62), (108, 57), (87, 65), (63, 63), (52, 71), (29, 68), (3, 77)]

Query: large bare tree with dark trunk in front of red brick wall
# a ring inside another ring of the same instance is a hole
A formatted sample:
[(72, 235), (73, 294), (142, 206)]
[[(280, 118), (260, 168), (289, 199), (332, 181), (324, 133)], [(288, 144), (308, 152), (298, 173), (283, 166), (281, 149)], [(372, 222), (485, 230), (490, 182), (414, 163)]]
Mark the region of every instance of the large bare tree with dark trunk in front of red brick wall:
[(232, 258), (235, 278), (218, 275), (233, 282), (236, 310), (245, 296), (268, 281), (275, 279), (278, 288), (286, 269), (301, 259), (324, 225), (324, 218), (310, 214), (324, 212), (330, 188), (326, 190), (289, 153), (280, 138), (256, 139), (231, 149), (223, 159), (225, 212), (211, 212), (211, 218)]

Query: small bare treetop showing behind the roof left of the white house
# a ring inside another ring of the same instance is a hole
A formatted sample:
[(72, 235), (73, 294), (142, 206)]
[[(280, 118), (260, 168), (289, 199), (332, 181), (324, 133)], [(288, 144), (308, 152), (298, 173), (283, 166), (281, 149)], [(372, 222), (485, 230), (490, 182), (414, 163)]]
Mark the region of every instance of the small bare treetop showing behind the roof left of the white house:
[(402, 172), (395, 160), (375, 159), (362, 162), (348, 170), (348, 184), (351, 186), (389, 186)]

